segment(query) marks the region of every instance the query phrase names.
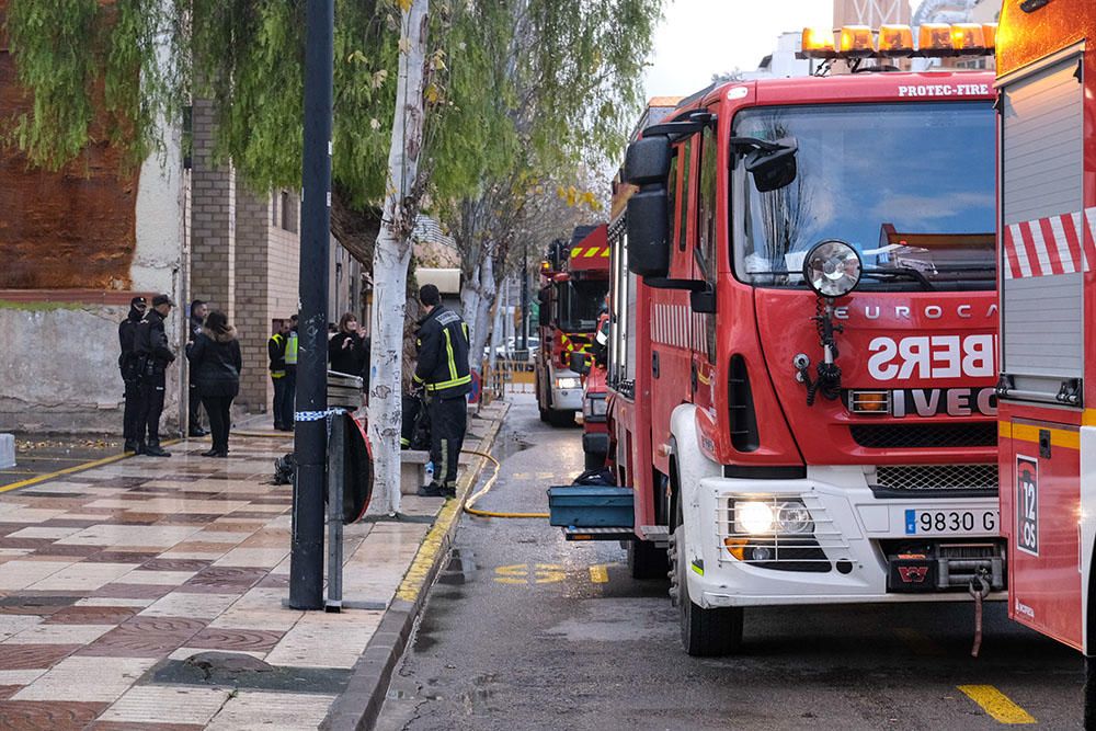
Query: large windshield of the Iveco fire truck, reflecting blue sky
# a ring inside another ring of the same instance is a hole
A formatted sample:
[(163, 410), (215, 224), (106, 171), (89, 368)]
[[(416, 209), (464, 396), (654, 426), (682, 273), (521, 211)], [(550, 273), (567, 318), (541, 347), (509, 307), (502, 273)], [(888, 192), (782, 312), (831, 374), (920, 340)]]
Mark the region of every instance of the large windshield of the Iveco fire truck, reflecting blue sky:
[(799, 174), (780, 190), (758, 193), (738, 165), (743, 282), (804, 287), (808, 250), (841, 239), (864, 260), (860, 289), (996, 285), (990, 102), (752, 108), (734, 135), (799, 145)]

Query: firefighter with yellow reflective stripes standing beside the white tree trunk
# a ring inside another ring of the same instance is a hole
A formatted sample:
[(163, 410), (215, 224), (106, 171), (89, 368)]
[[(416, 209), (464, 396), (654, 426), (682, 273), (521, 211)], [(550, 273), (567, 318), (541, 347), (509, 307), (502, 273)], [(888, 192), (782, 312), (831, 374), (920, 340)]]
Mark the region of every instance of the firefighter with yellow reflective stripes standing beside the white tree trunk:
[(414, 385), (429, 398), (430, 458), (434, 481), (419, 491), (427, 498), (455, 498), (457, 458), (468, 425), (468, 402), (472, 377), (468, 367), (468, 325), (460, 316), (442, 306), (437, 287), (427, 284), (419, 290), (419, 301), (426, 315), (419, 321), (419, 363)]

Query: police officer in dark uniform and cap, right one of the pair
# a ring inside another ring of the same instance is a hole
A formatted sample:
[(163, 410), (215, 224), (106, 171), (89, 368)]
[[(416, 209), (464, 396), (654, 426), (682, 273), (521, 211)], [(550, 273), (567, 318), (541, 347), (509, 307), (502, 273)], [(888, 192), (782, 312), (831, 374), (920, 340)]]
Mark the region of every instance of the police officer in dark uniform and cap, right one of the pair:
[(160, 446), (160, 414), (163, 412), (163, 392), (167, 385), (164, 373), (175, 359), (175, 354), (168, 345), (163, 321), (174, 305), (168, 295), (157, 295), (152, 298), (152, 309), (145, 315), (145, 319), (137, 327), (135, 350), (141, 367), (141, 407), (137, 435), (141, 454), (149, 457), (171, 456), (170, 452)]

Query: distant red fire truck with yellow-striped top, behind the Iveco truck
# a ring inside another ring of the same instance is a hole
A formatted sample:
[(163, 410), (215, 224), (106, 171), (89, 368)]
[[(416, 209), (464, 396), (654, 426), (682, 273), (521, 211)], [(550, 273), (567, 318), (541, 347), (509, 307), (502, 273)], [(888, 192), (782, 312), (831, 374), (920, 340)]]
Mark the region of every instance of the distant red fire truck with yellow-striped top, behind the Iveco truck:
[(593, 342), (609, 286), (607, 227), (580, 226), (571, 241), (555, 241), (540, 264), (540, 349), (536, 359), (537, 407), (552, 426), (574, 423), (582, 380), (571, 356)]

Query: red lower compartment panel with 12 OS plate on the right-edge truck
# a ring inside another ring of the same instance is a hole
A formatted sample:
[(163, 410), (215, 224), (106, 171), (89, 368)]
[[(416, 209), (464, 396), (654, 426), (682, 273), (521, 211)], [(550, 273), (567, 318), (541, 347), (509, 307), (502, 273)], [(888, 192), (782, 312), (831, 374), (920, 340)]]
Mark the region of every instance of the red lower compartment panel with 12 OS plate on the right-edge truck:
[[(1076, 426), (1014, 419), (1002, 436), (1008, 615), (1082, 649), (1081, 441)], [(1007, 445), (1007, 446), (1006, 446)]]

